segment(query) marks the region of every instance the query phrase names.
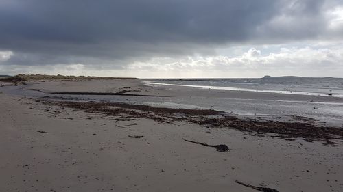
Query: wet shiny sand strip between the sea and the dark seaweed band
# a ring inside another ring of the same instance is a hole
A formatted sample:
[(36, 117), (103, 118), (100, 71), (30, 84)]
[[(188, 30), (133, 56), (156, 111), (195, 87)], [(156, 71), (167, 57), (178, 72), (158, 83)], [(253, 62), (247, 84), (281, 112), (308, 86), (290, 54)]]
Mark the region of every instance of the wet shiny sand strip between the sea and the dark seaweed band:
[(8, 94), (69, 100), (128, 102), (170, 108), (200, 108), (225, 111), (231, 115), (268, 120), (292, 120), (304, 116), (318, 126), (343, 127), (343, 98), (203, 90), (195, 87), (150, 87), (141, 79), (92, 81), (38, 81), (3, 87)]

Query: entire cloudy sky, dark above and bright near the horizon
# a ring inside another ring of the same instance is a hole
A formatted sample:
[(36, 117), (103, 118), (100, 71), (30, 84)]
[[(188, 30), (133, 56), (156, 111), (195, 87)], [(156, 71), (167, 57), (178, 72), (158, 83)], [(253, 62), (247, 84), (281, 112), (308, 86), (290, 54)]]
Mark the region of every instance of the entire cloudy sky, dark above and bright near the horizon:
[(0, 0), (0, 74), (343, 77), (343, 0)]

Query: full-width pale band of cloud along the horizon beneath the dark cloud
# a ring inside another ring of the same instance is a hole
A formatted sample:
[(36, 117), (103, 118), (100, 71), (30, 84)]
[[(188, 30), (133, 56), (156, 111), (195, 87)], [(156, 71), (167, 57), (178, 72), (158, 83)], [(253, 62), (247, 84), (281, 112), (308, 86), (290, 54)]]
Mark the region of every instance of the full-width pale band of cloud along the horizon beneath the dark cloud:
[[(8, 59), (11, 55), (14, 53), (1, 52), (0, 58)], [(338, 44), (334, 44), (331, 48), (284, 46), (270, 51), (261, 46), (260, 49), (246, 49), (245, 52), (235, 56), (152, 57), (131, 61), (122, 68), (117, 68), (115, 64), (96, 67), (82, 63), (6, 66), (1, 65), (0, 62), (0, 70), (3, 74), (40, 73), (143, 78), (263, 77), (266, 74), (342, 77), (343, 48)]]

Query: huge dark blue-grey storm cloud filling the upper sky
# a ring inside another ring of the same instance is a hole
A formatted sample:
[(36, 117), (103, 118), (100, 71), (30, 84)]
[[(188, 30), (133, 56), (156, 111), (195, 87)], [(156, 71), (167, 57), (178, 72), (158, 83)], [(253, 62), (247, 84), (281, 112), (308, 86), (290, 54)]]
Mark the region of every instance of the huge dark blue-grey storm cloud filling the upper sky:
[(85, 63), (317, 38), (325, 2), (2, 0), (0, 50), (14, 51), (7, 64)]

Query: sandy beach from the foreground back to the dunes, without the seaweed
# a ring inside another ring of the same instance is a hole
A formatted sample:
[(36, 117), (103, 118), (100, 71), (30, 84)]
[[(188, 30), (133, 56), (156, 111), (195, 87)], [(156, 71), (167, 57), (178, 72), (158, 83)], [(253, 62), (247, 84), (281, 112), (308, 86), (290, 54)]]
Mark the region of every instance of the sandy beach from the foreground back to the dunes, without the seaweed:
[[(198, 123), (216, 118), (211, 110), (167, 114), (115, 105), (104, 111), (106, 106), (93, 105), (87, 96), (74, 95), (80, 98), (71, 100), (76, 105), (58, 99), (68, 97), (62, 94), (66, 92), (107, 93), (94, 97), (119, 102), (138, 97), (152, 102), (161, 96), (333, 103), (343, 98), (235, 91), (213, 96), (196, 88), (148, 87), (140, 79), (26, 84), (0, 87), (0, 191), (256, 191), (236, 180), (277, 191), (343, 191), (343, 140), (338, 132), (333, 138), (327, 133), (278, 137), (268, 131), (270, 124), (256, 132), (248, 124), (244, 131)], [(296, 120), (300, 122), (323, 125)], [(229, 150), (218, 152), (185, 139), (225, 144)]]

